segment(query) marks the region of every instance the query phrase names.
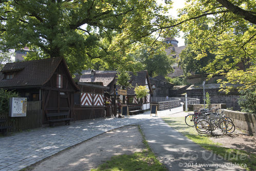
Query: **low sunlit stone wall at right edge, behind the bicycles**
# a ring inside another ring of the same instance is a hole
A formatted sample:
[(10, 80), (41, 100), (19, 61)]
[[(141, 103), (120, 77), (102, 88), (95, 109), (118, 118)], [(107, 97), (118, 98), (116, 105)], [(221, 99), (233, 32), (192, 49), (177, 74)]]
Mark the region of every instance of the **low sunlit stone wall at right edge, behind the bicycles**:
[(235, 127), (239, 127), (247, 132), (248, 135), (256, 137), (256, 115), (224, 109), (224, 114), (231, 118)]

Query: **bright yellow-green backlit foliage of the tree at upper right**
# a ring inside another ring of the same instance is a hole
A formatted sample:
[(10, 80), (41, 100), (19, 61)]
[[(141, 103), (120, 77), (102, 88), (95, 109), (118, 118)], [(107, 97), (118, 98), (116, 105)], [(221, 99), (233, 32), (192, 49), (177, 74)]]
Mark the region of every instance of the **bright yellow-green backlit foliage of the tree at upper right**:
[[(180, 10), (180, 21), (189, 41), (188, 55), (195, 61), (214, 59), (204, 66), (208, 73), (222, 74), (223, 90), (239, 91), (256, 86), (255, 76), (255, 1), (188, 1)], [(187, 61), (184, 60), (183, 64)], [(181, 65), (182, 66), (182, 65)]]

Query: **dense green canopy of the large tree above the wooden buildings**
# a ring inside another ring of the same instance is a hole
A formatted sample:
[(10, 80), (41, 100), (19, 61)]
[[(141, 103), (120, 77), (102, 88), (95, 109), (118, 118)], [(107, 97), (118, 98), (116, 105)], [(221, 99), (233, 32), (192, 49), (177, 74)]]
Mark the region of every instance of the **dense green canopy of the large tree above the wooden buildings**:
[(167, 18), (164, 11), (148, 0), (0, 1), (0, 48), (27, 46), (32, 50), (28, 59), (64, 56), (71, 73), (92, 60), (103, 60), (108, 68), (125, 65), (125, 47), (149, 35)]

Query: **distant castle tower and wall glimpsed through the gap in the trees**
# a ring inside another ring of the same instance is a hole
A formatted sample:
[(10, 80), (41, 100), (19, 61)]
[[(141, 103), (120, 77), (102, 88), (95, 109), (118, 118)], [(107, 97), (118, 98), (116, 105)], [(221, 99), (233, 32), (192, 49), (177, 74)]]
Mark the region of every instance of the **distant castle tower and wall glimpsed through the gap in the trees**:
[(182, 50), (186, 48), (186, 46), (178, 47), (178, 41), (175, 38), (167, 38), (165, 42), (171, 45), (169, 48), (166, 49), (167, 55), (171, 55), (176, 60), (176, 62), (172, 65), (174, 71), (173, 73), (169, 73), (168, 77), (179, 77), (183, 75), (183, 70), (178, 66), (179, 54)]

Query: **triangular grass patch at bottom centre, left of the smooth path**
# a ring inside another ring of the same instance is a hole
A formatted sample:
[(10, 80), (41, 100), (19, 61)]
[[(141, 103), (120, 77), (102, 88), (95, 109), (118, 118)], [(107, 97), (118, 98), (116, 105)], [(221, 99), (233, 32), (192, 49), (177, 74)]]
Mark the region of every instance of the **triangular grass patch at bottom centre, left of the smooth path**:
[[(139, 128), (141, 135), (142, 131)], [(134, 153), (133, 155), (119, 155), (114, 156), (111, 160), (106, 161), (101, 164), (98, 168), (92, 169), (92, 171), (116, 171), (116, 170), (167, 170), (167, 168), (162, 165), (155, 157), (153, 152), (150, 149), (149, 144), (143, 137), (143, 143), (145, 145), (145, 149), (142, 152)]]

